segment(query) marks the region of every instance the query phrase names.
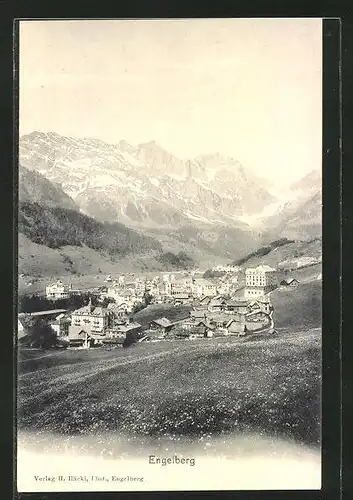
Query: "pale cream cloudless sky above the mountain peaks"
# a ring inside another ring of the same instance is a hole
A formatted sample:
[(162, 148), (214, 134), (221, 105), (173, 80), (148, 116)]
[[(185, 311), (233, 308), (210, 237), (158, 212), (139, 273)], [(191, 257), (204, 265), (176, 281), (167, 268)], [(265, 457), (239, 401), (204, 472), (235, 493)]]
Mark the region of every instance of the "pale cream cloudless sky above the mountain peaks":
[(21, 21), (19, 61), (20, 135), (155, 140), (278, 186), (321, 169), (321, 19)]

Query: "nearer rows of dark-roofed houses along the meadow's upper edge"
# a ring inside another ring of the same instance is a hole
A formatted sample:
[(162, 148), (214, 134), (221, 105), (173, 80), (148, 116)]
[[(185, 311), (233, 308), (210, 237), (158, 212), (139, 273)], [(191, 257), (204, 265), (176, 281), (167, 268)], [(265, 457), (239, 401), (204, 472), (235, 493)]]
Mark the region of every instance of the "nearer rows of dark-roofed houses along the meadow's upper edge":
[[(125, 308), (116, 303), (110, 303), (106, 308), (95, 307), (91, 299), (86, 306), (73, 312), (58, 309), (32, 313), (47, 318), (58, 338), (71, 348), (122, 346), (129, 335), (133, 335), (134, 341), (156, 342), (271, 332), (274, 327), (272, 314), (268, 296), (256, 301), (204, 296), (194, 301), (183, 318), (171, 321), (157, 317), (144, 327), (133, 321)], [(20, 328), (22, 335), (21, 318)]]

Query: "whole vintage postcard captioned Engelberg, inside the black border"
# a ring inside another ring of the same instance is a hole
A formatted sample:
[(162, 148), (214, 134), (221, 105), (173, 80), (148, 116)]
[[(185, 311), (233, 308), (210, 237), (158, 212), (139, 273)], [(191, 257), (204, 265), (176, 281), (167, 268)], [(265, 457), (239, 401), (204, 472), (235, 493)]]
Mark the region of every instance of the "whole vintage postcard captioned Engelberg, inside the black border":
[(17, 23), (18, 491), (320, 489), (322, 19)]

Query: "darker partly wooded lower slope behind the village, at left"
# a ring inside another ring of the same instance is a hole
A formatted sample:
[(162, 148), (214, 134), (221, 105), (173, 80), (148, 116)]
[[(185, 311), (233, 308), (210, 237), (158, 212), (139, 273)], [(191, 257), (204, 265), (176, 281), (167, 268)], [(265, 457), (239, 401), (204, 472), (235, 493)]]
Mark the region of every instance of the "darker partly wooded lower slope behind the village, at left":
[[(159, 270), (165, 268), (158, 257), (163, 252), (174, 255), (183, 252), (192, 259), (191, 262), (208, 267), (219, 259), (235, 258), (255, 245), (256, 238), (245, 224), (239, 224), (240, 228), (223, 228), (205, 223), (196, 226), (187, 221), (187, 225), (179, 228), (174, 224), (175, 230), (165, 231), (159, 227), (144, 229), (141, 233), (120, 223), (102, 223), (79, 213), (60, 186), (38, 172), (20, 167), (19, 174), (19, 232), (27, 238), (27, 243), (21, 244), (19, 251), (21, 272), (25, 274), (32, 271), (36, 275), (43, 274), (46, 269), (54, 274), (59, 271), (64, 274), (97, 272), (100, 268), (112, 272), (111, 258), (116, 264), (117, 256), (120, 262), (125, 259), (124, 265), (129, 268), (134, 262), (136, 269)], [(39, 200), (39, 203), (27, 201), (31, 199)], [(63, 207), (76, 210), (60, 210)], [(50, 248), (59, 251), (49, 251)], [(63, 261), (62, 248), (66, 248), (68, 260)], [(134, 256), (140, 254), (145, 256), (143, 262), (135, 260)], [(82, 262), (79, 262), (80, 258)], [(68, 265), (70, 261), (73, 264)]]

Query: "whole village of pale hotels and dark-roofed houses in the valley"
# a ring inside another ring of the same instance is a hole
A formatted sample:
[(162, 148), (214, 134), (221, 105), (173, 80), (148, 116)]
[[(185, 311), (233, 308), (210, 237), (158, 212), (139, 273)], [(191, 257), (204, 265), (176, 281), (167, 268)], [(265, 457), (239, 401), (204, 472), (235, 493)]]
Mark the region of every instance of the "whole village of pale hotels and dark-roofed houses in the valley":
[[(44, 318), (58, 339), (70, 349), (99, 346), (120, 347), (134, 342), (195, 340), (220, 336), (274, 333), (274, 308), (270, 292), (279, 285), (296, 286), (294, 278), (283, 280), (268, 265), (241, 269), (217, 266), (211, 277), (195, 277), (192, 272), (166, 273), (147, 278), (129, 275), (107, 276), (104, 285), (91, 290), (98, 306), (88, 303), (73, 311), (52, 309), (29, 313)], [(55, 303), (82, 293), (58, 280), (48, 283), (46, 298)], [(104, 306), (103, 306), (104, 304)], [(182, 310), (173, 319), (160, 311)], [(136, 311), (151, 310), (151, 320), (141, 324)], [(19, 338), (23, 333), (18, 318)], [(28, 315), (27, 315), (28, 316)], [(180, 315), (179, 315), (180, 316)]]

